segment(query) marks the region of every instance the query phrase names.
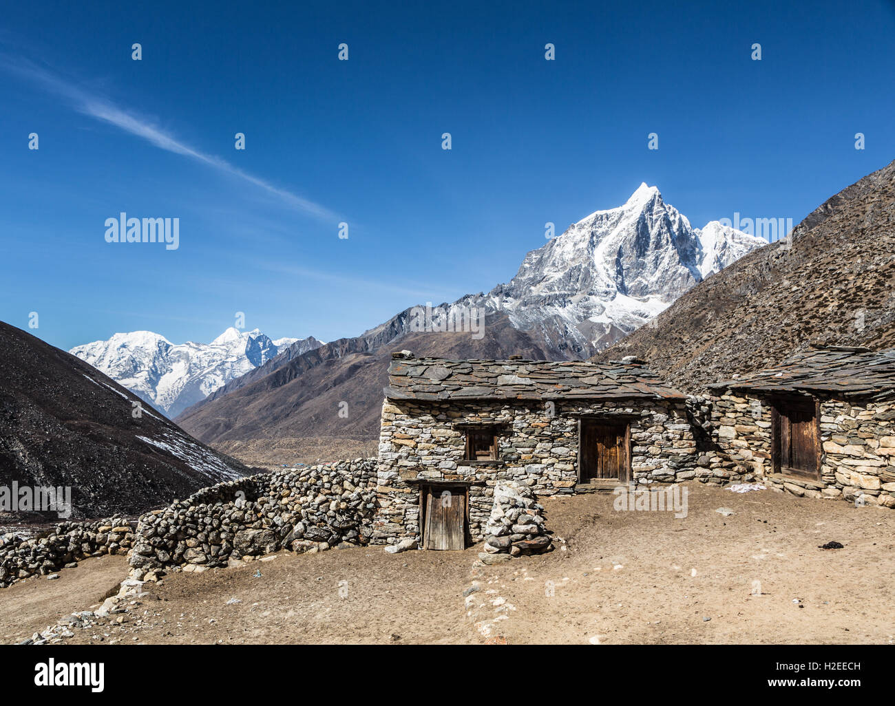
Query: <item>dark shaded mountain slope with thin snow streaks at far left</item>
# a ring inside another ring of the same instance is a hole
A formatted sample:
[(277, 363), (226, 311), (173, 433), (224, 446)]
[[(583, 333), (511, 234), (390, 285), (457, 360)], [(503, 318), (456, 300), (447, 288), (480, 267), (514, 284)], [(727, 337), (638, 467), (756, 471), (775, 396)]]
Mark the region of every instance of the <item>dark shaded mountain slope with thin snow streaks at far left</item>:
[(96, 517), (247, 472), (86, 362), (0, 322), (0, 485), (68, 486), (72, 516)]

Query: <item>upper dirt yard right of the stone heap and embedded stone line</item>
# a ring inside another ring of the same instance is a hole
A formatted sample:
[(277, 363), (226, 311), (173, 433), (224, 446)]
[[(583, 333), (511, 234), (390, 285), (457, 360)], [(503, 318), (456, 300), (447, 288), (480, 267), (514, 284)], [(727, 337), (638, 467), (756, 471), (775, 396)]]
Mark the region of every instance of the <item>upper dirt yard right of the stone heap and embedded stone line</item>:
[[(567, 550), (490, 572), (516, 608), (507, 642), (895, 641), (891, 511), (690, 489), (683, 519), (615, 512), (611, 496), (547, 501)], [(818, 549), (830, 540), (844, 549)]]

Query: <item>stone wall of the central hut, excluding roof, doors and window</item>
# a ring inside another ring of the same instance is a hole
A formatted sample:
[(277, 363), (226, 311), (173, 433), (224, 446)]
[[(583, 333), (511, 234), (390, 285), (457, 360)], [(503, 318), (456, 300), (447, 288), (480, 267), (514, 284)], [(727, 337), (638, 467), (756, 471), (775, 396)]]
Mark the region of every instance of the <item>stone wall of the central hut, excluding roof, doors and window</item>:
[[(413, 481), (470, 483), (469, 529), (484, 539), (494, 486), (515, 481), (537, 495), (571, 494), (578, 481), (578, 421), (598, 415), (630, 423), (631, 472), (637, 484), (696, 479), (727, 481), (708, 449), (707, 435), (695, 433), (692, 411), (683, 401), (386, 400), (379, 437), (379, 511), (373, 543), (396, 543), (420, 532), (420, 493)], [(499, 425), (498, 459), (465, 461), (465, 425)], [(702, 441), (697, 436), (705, 437)], [(733, 464), (730, 464), (731, 466)]]

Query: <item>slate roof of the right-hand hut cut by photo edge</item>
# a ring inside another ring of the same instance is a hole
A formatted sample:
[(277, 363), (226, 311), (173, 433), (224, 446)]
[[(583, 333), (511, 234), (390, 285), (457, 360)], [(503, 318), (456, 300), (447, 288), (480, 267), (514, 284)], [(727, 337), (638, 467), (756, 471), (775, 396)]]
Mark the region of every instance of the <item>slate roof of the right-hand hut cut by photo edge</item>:
[(873, 352), (844, 345), (815, 345), (775, 368), (709, 386), (765, 393), (826, 393), (840, 397), (895, 395), (895, 350)]

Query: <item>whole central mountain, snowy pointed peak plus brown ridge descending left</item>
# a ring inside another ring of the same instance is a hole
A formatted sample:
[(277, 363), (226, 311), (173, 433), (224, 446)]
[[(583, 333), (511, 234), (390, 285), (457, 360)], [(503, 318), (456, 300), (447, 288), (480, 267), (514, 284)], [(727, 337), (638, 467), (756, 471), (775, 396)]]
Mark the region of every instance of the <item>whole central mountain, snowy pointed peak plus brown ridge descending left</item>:
[[(375, 438), (392, 350), (580, 359), (763, 244), (717, 222), (694, 229), (658, 189), (641, 184), (624, 206), (597, 211), (529, 252), (516, 276), (490, 293), (431, 311), (407, 309), (362, 336), (280, 354), (218, 388), (177, 422), (233, 453), (235, 442), (260, 438)], [(484, 313), (481, 328), (447, 326), (468, 322), (478, 311)], [(340, 403), (347, 416), (338, 416)]]

